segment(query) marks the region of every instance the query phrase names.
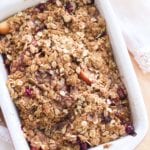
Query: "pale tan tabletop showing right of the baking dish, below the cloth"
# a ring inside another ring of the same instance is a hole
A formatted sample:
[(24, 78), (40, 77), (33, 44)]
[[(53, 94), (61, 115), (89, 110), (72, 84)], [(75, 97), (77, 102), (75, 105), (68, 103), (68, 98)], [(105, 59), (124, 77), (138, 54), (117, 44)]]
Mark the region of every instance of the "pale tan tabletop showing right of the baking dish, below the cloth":
[[(137, 74), (137, 77), (138, 77), (138, 81), (139, 81), (139, 84), (140, 84), (140, 87), (141, 87), (141, 91), (142, 91), (142, 94), (143, 94), (143, 97), (144, 97), (144, 102), (145, 102), (145, 105), (146, 105), (146, 109), (147, 109), (147, 113), (148, 113), (148, 119), (149, 119), (149, 122), (150, 122), (150, 73), (143, 73), (137, 63), (135, 62), (135, 60), (133, 59), (133, 57), (131, 56), (131, 60), (132, 60), (132, 63), (133, 63), (133, 66), (134, 66), (134, 69), (135, 69), (135, 72)], [(1, 144), (2, 142), (0, 141), (0, 146), (2, 146), (0, 148), (0, 150), (10, 150), (10, 146), (6, 146), (6, 143), (5, 144)], [(5, 146), (7, 148), (5, 148)], [(143, 141), (137, 146), (136, 150), (149, 150), (150, 149), (150, 127), (149, 127), (149, 130), (147, 132), (147, 135), (145, 136), (145, 138), (143, 139)]]

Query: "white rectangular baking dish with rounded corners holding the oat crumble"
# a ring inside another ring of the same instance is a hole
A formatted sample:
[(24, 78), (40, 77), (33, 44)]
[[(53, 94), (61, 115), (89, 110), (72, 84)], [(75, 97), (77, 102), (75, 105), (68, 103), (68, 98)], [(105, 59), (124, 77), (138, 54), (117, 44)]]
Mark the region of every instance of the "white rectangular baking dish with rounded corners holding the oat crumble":
[[(0, 4), (0, 19), (23, 10), (27, 7), (35, 5), (40, 0), (1, 0)], [(130, 107), (132, 111), (133, 122), (137, 135), (135, 137), (125, 136), (116, 141), (111, 142), (109, 149), (111, 150), (132, 150), (143, 139), (147, 132), (148, 120), (145, 111), (144, 101), (137, 82), (135, 72), (133, 70), (130, 57), (124, 43), (121, 31), (117, 25), (117, 20), (112, 11), (108, 0), (95, 0), (95, 4), (107, 22), (107, 30), (110, 36), (113, 53), (120, 70), (122, 80), (127, 88)], [(28, 144), (23, 136), (21, 124), (17, 115), (16, 108), (11, 100), (7, 86), (7, 73), (0, 57), (0, 103), (1, 108), (16, 150), (29, 150)], [(100, 145), (92, 150), (101, 150), (103, 145)]]

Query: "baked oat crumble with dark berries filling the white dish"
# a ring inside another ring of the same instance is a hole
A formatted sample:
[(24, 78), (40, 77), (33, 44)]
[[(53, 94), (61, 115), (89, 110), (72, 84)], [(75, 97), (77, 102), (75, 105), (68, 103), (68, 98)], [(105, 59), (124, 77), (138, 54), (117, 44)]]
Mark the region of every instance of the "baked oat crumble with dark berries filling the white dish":
[(6, 24), (0, 52), (32, 150), (86, 150), (135, 133), (106, 24), (92, 0), (49, 0)]

